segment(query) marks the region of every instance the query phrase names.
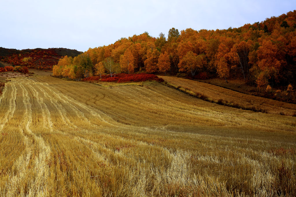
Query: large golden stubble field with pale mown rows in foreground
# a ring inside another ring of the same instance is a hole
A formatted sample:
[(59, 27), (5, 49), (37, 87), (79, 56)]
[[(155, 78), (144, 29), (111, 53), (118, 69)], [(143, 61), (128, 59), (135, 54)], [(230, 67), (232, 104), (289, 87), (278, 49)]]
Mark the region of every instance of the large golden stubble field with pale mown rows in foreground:
[(51, 76), (0, 108), (0, 196), (296, 195), (294, 117)]

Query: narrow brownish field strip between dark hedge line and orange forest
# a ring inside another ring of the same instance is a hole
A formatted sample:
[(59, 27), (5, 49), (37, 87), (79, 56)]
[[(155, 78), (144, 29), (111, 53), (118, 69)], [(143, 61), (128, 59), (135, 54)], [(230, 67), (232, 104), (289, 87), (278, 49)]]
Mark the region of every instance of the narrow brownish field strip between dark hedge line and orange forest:
[(213, 101), (219, 105), (227, 105), (235, 108), (289, 116), (296, 113), (295, 104), (247, 95), (212, 84), (206, 84), (189, 79), (172, 76), (161, 77), (171, 86), (186, 91), (191, 95), (203, 95), (205, 97), (204, 100)]

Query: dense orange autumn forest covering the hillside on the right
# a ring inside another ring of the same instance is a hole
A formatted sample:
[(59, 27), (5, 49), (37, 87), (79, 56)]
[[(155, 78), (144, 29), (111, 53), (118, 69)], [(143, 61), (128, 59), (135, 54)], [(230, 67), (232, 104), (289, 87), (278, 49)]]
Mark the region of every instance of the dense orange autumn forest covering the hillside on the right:
[(60, 59), (54, 75), (81, 79), (109, 73), (163, 73), (245, 80), (258, 89), (295, 84), (296, 11), (226, 30), (148, 32)]

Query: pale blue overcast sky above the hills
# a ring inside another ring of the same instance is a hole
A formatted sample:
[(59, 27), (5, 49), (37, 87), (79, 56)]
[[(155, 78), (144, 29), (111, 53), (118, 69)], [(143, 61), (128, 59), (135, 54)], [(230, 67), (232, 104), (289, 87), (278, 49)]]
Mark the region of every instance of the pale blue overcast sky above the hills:
[(296, 0), (0, 0), (0, 47), (86, 51), (147, 31), (228, 29), (296, 9)]

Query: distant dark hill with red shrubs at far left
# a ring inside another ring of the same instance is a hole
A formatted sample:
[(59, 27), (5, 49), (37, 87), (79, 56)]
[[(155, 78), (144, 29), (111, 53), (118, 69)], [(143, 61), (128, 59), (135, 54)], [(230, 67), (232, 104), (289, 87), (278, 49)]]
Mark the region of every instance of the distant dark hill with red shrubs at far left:
[[(51, 70), (62, 56), (78, 56), (82, 52), (67, 48), (8, 49), (0, 47), (0, 61), (13, 66)], [(3, 66), (3, 63), (0, 64)]]

